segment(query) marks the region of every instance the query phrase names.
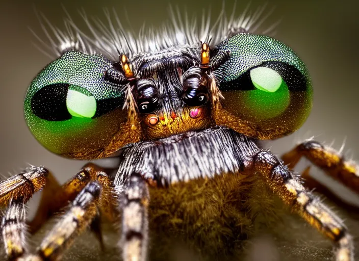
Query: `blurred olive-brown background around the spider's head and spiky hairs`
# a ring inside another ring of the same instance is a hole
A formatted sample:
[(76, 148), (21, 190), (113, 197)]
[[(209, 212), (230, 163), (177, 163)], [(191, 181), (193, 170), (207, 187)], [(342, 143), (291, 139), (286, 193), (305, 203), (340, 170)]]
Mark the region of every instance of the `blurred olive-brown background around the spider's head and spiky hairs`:
[[(267, 19), (277, 26), (275, 37), (291, 46), (309, 68), (314, 86), (312, 114), (295, 134), (268, 143), (275, 153), (283, 153), (303, 139), (316, 140), (339, 149), (344, 140), (344, 151), (350, 149), (353, 159), (359, 160), (359, 49), (357, 34), (359, 19), (356, 1), (251, 1), (250, 10), (267, 3), (275, 8)], [(173, 6), (187, 9), (189, 17), (211, 7), (213, 20), (222, 8), (222, 1), (172, 1)], [(228, 16), (233, 2), (225, 1)], [(240, 15), (248, 1), (238, 1), (235, 10)], [(1, 1), (0, 3), (0, 173), (7, 176), (27, 166), (44, 165), (52, 170), (60, 182), (76, 173), (84, 162), (63, 159), (46, 151), (28, 131), (23, 118), (23, 98), (37, 73), (49, 62), (34, 44), (38, 40), (33, 30), (47, 39), (36, 17), (35, 9), (43, 12), (50, 22), (64, 28), (66, 11), (76, 24), (86, 31), (78, 11), (105, 21), (103, 8), (115, 8), (118, 14), (127, 12), (135, 31), (146, 22), (155, 27), (169, 20), (169, 4), (162, 1)], [(124, 17), (124, 21), (125, 21)], [(126, 24), (126, 23), (125, 23)], [(263, 26), (264, 28), (266, 25)], [(267, 144), (265, 145), (267, 146)]]

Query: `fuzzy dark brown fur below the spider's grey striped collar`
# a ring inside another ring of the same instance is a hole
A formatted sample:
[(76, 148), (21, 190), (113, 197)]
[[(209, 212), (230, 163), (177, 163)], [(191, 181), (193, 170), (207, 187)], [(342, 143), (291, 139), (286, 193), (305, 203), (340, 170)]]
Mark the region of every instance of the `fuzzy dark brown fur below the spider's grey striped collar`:
[(151, 259), (166, 259), (179, 244), (203, 257), (223, 259), (244, 240), (279, 220), (275, 200), (258, 176), (226, 173), (213, 179), (151, 188)]

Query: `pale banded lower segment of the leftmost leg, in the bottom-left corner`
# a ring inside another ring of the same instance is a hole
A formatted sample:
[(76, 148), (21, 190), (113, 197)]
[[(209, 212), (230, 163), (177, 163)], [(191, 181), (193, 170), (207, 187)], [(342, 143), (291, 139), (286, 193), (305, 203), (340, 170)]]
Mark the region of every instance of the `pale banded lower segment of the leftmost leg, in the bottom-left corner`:
[(1, 225), (3, 241), (9, 260), (14, 260), (26, 252), (24, 203), (12, 200)]

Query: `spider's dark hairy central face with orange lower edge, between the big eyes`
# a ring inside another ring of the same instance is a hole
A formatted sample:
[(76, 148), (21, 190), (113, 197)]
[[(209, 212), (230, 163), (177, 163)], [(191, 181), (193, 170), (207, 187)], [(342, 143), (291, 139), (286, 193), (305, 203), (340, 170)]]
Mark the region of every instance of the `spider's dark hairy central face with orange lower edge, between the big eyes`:
[(140, 79), (135, 100), (145, 139), (165, 138), (214, 123), (209, 90), (200, 83), (196, 51), (136, 57)]

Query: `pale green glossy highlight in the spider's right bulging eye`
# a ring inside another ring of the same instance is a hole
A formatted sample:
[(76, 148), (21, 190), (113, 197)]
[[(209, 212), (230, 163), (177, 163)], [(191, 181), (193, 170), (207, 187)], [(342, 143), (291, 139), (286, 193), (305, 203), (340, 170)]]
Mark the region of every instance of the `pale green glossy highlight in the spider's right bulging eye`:
[(283, 79), (275, 70), (268, 67), (257, 67), (250, 71), (250, 79), (255, 88), (265, 92), (275, 92)]

